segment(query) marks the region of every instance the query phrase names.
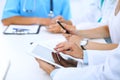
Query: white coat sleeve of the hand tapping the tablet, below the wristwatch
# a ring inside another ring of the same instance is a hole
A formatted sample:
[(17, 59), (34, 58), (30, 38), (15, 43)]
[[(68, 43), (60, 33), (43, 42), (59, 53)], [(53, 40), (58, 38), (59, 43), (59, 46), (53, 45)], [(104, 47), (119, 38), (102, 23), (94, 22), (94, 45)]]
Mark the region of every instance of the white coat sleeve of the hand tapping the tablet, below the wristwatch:
[(119, 47), (113, 50), (87, 50), (88, 64), (89, 65), (98, 65), (103, 64), (107, 56), (114, 54)]

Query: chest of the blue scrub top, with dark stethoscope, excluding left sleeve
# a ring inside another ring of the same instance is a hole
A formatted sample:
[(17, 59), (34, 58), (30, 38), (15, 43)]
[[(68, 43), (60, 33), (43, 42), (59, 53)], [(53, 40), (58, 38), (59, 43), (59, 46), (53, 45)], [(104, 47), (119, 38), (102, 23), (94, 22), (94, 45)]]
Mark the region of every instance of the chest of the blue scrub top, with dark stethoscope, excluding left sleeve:
[[(22, 16), (33, 16), (33, 17), (45, 17), (47, 18), (50, 13), (50, 0), (19, 0), (20, 14)], [(54, 15), (62, 14), (63, 0), (59, 2), (53, 0), (53, 11)]]

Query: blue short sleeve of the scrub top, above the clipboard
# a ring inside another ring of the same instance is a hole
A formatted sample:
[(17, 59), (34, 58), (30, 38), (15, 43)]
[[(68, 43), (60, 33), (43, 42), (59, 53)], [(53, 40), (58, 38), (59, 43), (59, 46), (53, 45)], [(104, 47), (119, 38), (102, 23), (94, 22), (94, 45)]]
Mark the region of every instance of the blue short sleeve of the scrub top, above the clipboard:
[(19, 16), (19, 7), (19, 0), (7, 0), (3, 10), (2, 19)]

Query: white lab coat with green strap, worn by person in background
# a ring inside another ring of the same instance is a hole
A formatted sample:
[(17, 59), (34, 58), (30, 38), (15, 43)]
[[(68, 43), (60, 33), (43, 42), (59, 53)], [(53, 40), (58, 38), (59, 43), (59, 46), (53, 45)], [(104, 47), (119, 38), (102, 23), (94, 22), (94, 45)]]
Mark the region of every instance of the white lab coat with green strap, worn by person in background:
[(117, 0), (104, 0), (102, 7), (100, 7), (100, 1), (101, 0), (82, 1), (82, 5), (78, 7), (79, 15), (76, 17), (73, 16), (71, 19), (73, 25), (78, 25), (84, 22), (98, 23), (100, 18), (102, 18), (101, 23), (106, 24), (116, 6)]

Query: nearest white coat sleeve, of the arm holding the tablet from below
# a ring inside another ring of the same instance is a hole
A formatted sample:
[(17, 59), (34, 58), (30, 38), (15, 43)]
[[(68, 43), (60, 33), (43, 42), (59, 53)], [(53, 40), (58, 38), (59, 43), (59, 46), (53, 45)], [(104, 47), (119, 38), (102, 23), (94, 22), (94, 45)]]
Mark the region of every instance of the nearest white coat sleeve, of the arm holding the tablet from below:
[(107, 55), (105, 62), (99, 65), (59, 69), (53, 80), (120, 80), (120, 45), (112, 52), (114, 53)]

